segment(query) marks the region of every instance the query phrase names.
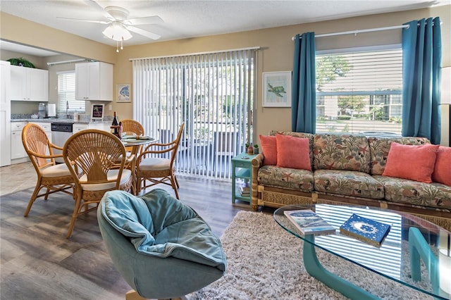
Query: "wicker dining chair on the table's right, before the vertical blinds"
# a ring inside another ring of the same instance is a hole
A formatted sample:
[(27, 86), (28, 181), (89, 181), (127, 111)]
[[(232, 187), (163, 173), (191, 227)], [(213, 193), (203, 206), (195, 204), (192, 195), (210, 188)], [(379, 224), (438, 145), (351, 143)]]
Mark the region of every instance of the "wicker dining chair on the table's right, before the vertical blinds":
[[(168, 143), (154, 143), (142, 151), (138, 156), (136, 162), (136, 192), (140, 193), (142, 189), (152, 187), (163, 183), (165, 185), (171, 185), (175, 192), (175, 197), (178, 197), (178, 184), (177, 177), (175, 177), (175, 156), (177, 156), (178, 146), (180, 139), (182, 138), (183, 128), (185, 123), (180, 126), (177, 137)], [(164, 155), (170, 153), (169, 158), (163, 157), (151, 157), (150, 154)], [(147, 180), (149, 185), (146, 184)]]

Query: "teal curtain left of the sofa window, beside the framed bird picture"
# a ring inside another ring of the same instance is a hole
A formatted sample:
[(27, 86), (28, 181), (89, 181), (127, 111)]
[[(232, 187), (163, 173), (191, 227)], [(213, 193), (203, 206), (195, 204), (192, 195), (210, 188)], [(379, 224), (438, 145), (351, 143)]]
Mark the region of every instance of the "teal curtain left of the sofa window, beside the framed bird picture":
[(315, 133), (316, 80), (315, 33), (295, 37), (295, 58), (292, 75), (291, 129), (294, 132)]

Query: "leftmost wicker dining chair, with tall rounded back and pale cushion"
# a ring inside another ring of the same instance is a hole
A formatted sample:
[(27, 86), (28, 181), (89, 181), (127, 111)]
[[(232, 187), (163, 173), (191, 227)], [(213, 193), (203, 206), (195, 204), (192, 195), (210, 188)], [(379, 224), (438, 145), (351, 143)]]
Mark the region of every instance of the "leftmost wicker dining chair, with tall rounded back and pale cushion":
[[(63, 154), (54, 154), (53, 150), (63, 148), (52, 144), (42, 127), (32, 123), (25, 125), (22, 130), (22, 142), (37, 173), (36, 187), (24, 213), (26, 217), (35, 200), (41, 196), (44, 196), (44, 200), (55, 192), (73, 196), (74, 180), (65, 164), (55, 163), (55, 158), (62, 158)], [(39, 194), (44, 188), (46, 192)]]

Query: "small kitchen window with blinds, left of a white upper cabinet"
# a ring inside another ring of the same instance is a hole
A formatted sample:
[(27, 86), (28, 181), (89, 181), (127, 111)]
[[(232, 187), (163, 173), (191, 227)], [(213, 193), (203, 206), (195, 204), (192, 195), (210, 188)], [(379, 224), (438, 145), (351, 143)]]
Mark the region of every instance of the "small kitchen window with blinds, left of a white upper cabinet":
[[(85, 113), (86, 101), (75, 100), (75, 71), (58, 72), (58, 114)], [(66, 111), (66, 108), (67, 111)]]

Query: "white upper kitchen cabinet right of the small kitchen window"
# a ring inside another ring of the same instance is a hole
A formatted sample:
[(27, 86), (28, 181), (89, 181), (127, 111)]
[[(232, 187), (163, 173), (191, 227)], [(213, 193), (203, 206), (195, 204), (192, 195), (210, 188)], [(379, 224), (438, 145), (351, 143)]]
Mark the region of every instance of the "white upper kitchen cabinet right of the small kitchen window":
[(113, 101), (113, 65), (75, 63), (75, 99)]

